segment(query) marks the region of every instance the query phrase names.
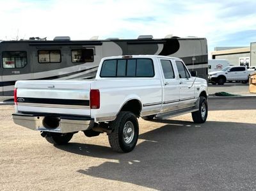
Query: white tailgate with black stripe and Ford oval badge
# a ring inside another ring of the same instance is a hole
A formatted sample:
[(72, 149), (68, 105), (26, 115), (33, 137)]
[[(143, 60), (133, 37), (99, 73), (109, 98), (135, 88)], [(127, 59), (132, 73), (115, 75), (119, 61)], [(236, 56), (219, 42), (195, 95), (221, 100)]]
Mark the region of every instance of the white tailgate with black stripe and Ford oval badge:
[(42, 112), (90, 116), (88, 80), (20, 80), (17, 112)]

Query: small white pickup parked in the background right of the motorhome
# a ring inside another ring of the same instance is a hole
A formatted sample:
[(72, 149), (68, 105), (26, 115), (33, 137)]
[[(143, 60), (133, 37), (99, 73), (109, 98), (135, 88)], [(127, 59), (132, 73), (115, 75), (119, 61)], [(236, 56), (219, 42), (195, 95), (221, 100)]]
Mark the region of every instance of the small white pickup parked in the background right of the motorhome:
[(227, 66), (223, 70), (209, 72), (208, 79), (210, 83), (219, 85), (223, 85), (227, 81), (241, 81), (246, 84), (251, 72), (253, 71), (248, 71), (246, 66)]

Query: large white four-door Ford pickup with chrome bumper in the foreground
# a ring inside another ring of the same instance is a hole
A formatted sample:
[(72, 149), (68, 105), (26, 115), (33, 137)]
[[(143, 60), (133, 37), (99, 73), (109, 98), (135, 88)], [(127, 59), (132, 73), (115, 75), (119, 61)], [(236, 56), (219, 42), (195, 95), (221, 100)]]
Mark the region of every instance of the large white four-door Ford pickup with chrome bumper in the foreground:
[(208, 112), (207, 81), (166, 56), (105, 57), (95, 80), (20, 80), (14, 98), (14, 122), (48, 142), (66, 144), (79, 131), (88, 137), (106, 132), (119, 152), (136, 146), (139, 117), (191, 112), (195, 123), (204, 123)]

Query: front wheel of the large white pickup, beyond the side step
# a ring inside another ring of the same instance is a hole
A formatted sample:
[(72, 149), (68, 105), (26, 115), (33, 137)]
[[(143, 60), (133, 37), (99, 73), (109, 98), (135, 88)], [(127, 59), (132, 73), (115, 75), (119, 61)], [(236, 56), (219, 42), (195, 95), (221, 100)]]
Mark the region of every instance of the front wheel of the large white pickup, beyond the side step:
[(204, 96), (200, 96), (199, 110), (192, 112), (194, 123), (205, 123), (208, 115), (208, 104)]

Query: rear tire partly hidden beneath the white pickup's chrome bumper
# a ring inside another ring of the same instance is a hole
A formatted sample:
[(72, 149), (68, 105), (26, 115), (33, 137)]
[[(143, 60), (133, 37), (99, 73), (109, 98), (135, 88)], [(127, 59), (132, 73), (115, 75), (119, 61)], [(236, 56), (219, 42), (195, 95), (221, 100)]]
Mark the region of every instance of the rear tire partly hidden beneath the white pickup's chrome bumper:
[(45, 135), (46, 141), (54, 145), (67, 144), (73, 137), (72, 133), (58, 134), (58, 133), (47, 133)]

